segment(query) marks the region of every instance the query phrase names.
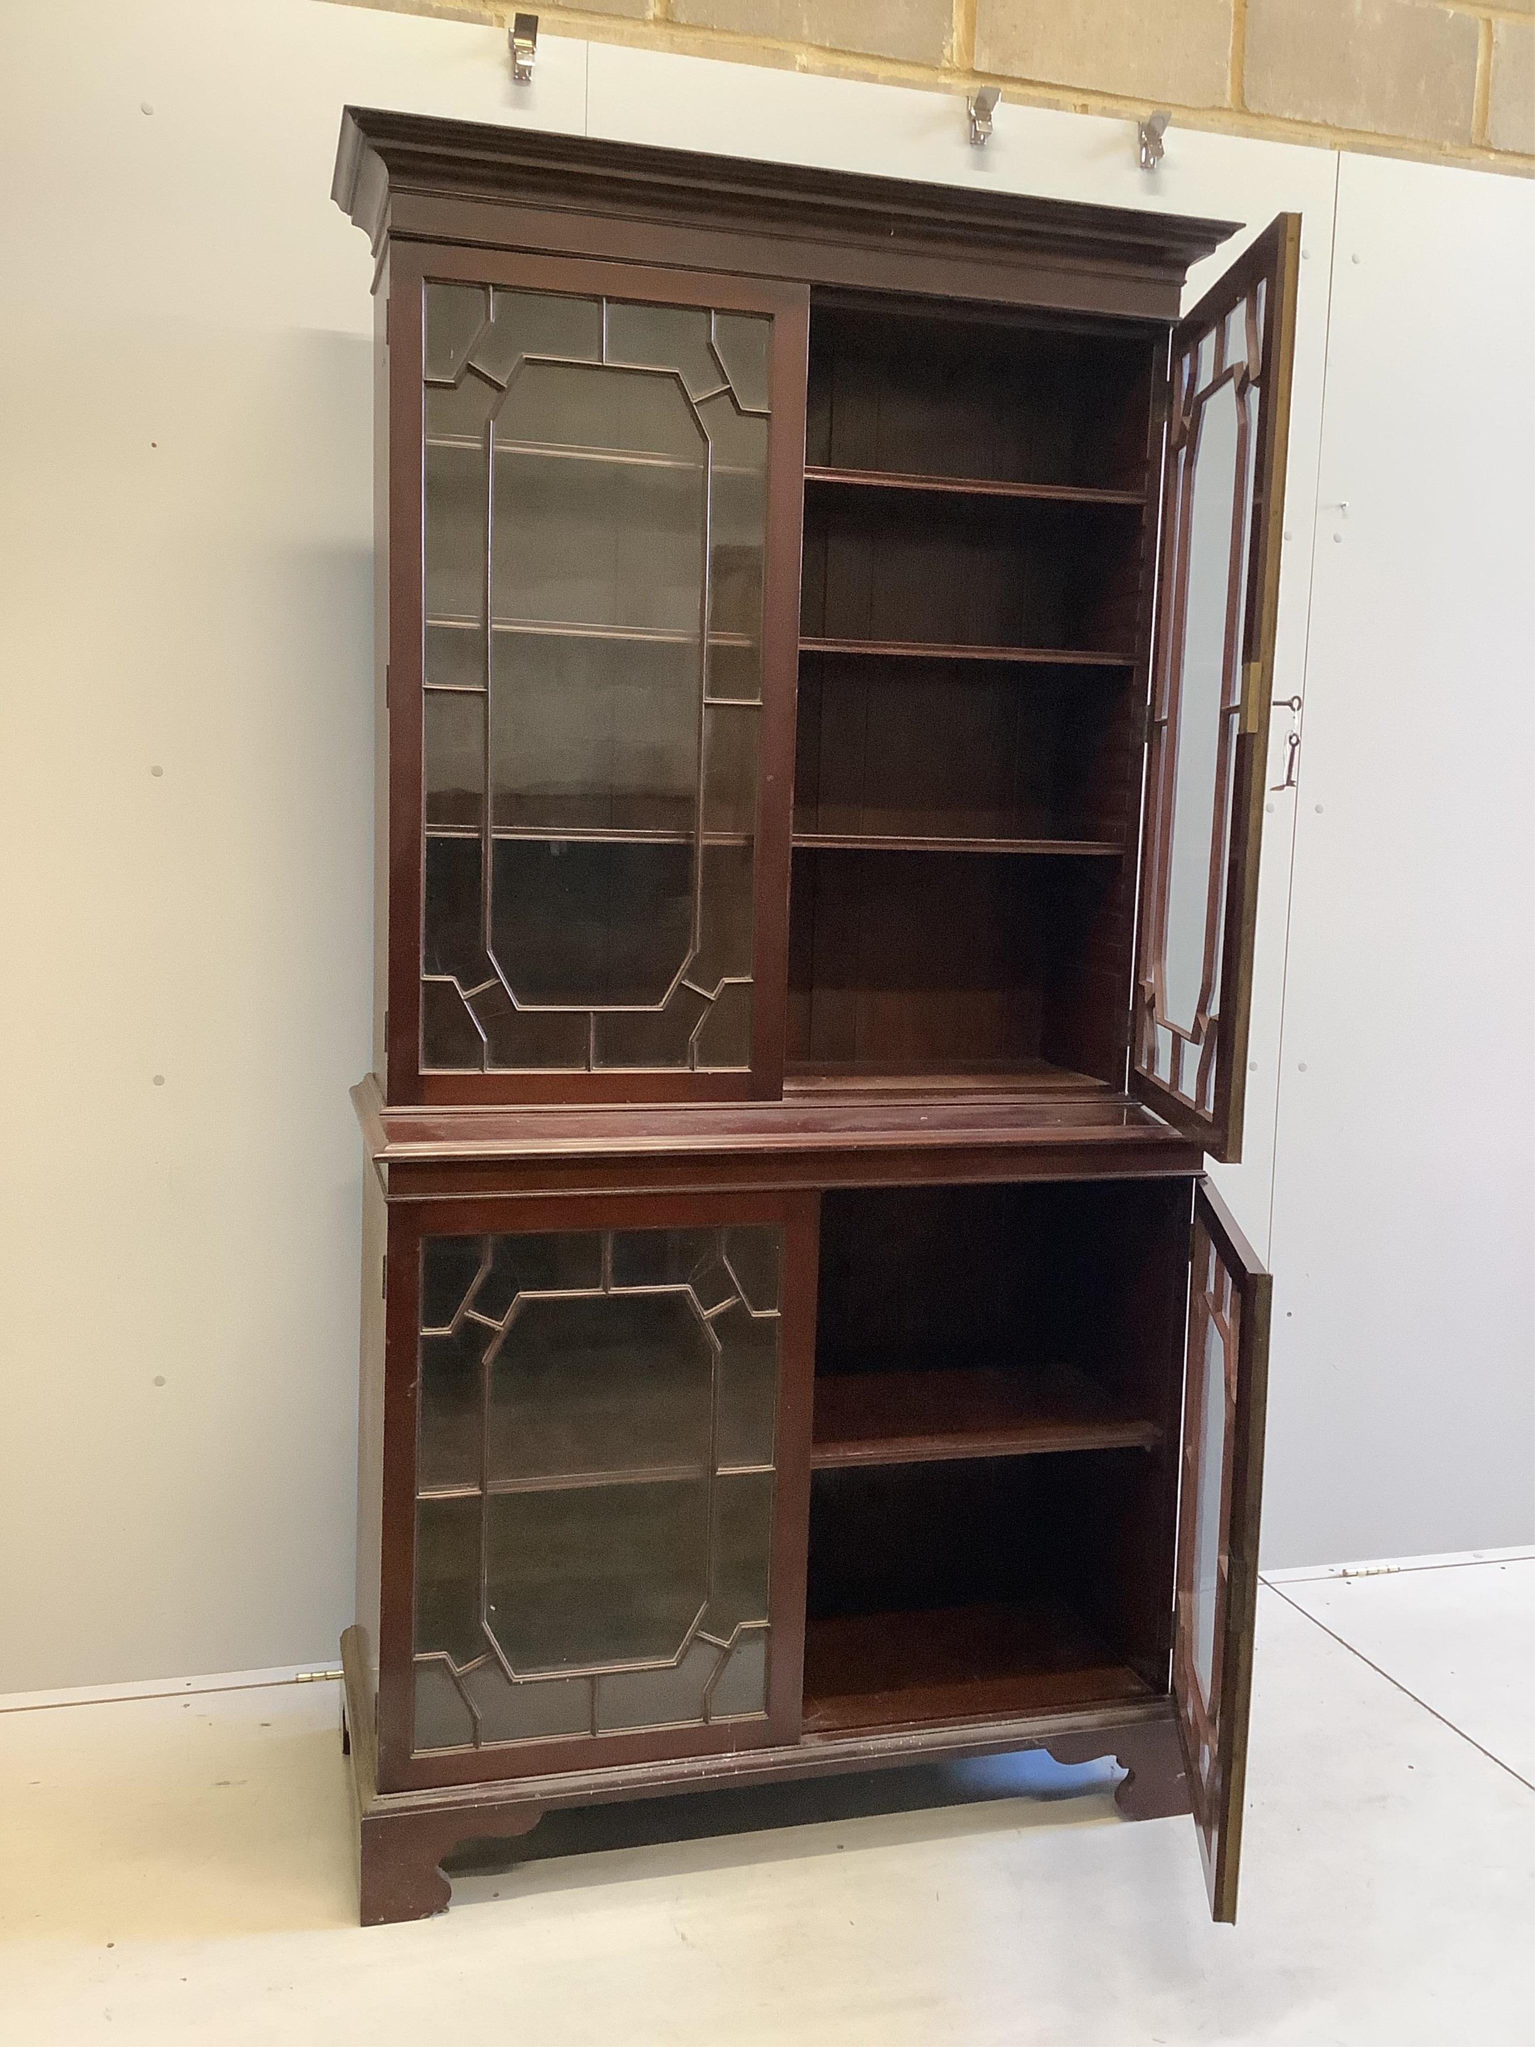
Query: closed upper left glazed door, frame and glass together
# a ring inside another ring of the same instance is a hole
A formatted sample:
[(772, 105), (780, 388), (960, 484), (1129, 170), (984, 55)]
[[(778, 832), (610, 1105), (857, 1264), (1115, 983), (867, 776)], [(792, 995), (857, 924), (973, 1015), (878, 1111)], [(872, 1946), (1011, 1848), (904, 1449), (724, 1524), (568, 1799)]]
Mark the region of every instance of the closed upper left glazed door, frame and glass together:
[(776, 1095), (806, 293), (387, 291), (389, 1099)]

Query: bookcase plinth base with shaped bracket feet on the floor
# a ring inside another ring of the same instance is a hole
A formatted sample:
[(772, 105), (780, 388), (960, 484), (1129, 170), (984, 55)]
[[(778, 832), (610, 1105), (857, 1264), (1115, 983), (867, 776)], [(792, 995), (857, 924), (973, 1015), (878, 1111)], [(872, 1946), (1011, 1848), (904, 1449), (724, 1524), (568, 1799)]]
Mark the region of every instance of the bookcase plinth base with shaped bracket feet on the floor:
[(1115, 1791), (1128, 1820), (1189, 1812), (1177, 1726), (1167, 1699), (1138, 1707), (1099, 1707), (1036, 1719), (997, 1719), (948, 1728), (890, 1728), (878, 1734), (817, 1738), (794, 1748), (757, 1748), (733, 1756), (596, 1769), (563, 1777), (501, 1779), (438, 1791), (379, 1791), (372, 1699), (356, 1627), (342, 1636), (342, 1750), (352, 1765), (358, 1820), (358, 1906), (364, 1926), (432, 1918), (448, 1910), (444, 1857), (467, 1840), (514, 1840), (544, 1812), (608, 1799), (657, 1797), (722, 1785), (782, 1783), (845, 1771), (894, 1769), (941, 1756), (1007, 1754), (1044, 1748), (1056, 1762), (1113, 1756), (1130, 1775)]

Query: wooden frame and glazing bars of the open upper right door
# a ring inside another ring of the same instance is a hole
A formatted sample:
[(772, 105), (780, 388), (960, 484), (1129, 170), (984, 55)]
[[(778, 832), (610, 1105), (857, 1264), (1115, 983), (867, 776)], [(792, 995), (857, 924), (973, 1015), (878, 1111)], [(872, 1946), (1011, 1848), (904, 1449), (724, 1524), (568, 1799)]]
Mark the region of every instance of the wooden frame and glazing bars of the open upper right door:
[[(1146, 798), (1140, 825), (1140, 911), (1130, 1030), (1130, 1093), (1222, 1163), (1242, 1157), (1246, 1042), (1253, 1009), (1253, 954), (1259, 911), (1259, 847), (1269, 757), (1273, 649), (1279, 622), (1279, 545), (1289, 383), (1296, 354), (1300, 215), (1281, 213), (1173, 330), (1163, 510), (1156, 563), (1156, 635), (1146, 727)], [(1244, 323), (1240, 356), (1226, 354), (1226, 321), (1242, 303), (1263, 301)], [(1199, 383), (1199, 348), (1214, 336), (1214, 371)], [(1257, 346), (1255, 346), (1257, 344)], [(1257, 352), (1257, 375), (1253, 356)], [(1238, 426), (1257, 442), (1242, 522), (1232, 522), (1226, 569), (1220, 723), (1214, 759), (1214, 833), (1205, 882), (1205, 935), (1193, 1040), (1165, 1017), (1167, 927), (1175, 843), (1179, 743), (1183, 737), (1189, 532), (1203, 407), (1226, 383), (1253, 383), (1257, 420)], [(1158, 1032), (1169, 1042), (1169, 1077), (1156, 1075)], [(1189, 1066), (1193, 1075), (1189, 1077)]]

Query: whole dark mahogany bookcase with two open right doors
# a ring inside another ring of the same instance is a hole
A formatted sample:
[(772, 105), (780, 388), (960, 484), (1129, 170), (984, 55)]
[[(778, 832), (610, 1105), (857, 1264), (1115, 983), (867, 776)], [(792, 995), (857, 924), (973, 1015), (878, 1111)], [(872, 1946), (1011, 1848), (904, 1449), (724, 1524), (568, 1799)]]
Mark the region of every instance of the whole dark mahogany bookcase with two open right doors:
[(348, 111), (377, 254), (364, 1922), (1048, 1748), (1232, 1918), (1298, 231)]

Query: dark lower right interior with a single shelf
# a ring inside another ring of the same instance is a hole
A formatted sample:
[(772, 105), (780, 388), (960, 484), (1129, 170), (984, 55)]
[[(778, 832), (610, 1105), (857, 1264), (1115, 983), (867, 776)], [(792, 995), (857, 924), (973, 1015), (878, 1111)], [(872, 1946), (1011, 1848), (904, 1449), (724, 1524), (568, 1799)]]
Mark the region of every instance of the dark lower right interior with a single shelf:
[(1187, 1204), (823, 1197), (806, 1734), (1167, 1689)]

